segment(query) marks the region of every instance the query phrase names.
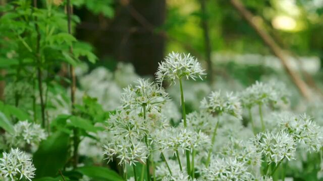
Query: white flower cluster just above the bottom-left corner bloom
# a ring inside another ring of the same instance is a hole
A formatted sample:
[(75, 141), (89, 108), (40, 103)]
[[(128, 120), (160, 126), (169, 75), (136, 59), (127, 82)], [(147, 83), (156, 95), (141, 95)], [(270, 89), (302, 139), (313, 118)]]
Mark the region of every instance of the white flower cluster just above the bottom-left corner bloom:
[(7, 143), (11, 146), (24, 148), (26, 144), (37, 146), (41, 140), (46, 139), (47, 135), (39, 124), (19, 121), (14, 126), (14, 133), (5, 133)]

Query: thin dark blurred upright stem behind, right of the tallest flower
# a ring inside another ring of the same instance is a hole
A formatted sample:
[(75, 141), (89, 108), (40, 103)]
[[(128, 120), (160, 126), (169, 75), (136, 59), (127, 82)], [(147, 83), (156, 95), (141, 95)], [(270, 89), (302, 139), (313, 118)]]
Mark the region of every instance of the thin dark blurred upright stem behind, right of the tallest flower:
[(213, 67), (211, 62), (211, 43), (210, 43), (210, 35), (209, 35), (209, 27), (207, 23), (207, 12), (206, 12), (206, 0), (200, 0), (201, 4), (201, 12), (202, 12), (202, 29), (204, 36), (204, 46), (205, 46), (205, 58), (207, 63), (207, 73), (209, 75), (208, 80), (212, 85), (214, 82), (213, 77)]

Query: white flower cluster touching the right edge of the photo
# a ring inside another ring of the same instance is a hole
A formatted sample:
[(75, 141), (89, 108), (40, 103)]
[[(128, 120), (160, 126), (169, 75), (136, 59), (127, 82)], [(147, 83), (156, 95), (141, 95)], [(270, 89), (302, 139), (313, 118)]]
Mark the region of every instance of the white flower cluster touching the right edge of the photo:
[(282, 119), (281, 128), (307, 151), (318, 152), (322, 147), (321, 127), (316, 125), (306, 114)]

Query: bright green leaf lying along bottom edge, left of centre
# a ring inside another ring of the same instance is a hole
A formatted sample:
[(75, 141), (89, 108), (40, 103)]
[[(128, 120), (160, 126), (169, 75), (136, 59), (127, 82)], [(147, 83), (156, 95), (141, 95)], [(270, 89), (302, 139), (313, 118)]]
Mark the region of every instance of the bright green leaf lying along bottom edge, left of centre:
[(122, 177), (115, 171), (98, 166), (84, 166), (77, 168), (76, 171), (94, 178), (94, 180), (109, 180), (109, 181), (122, 181)]

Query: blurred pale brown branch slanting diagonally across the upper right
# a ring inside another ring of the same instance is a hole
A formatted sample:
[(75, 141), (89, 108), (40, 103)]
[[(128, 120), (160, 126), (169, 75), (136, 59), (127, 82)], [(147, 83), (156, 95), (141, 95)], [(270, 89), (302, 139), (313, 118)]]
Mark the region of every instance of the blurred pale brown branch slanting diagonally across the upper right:
[(283, 52), (283, 50), (276, 44), (273, 38), (265, 32), (261, 27), (256, 24), (254, 20), (254, 16), (244, 7), (244, 5), (239, 0), (230, 0), (232, 6), (240, 13), (240, 15), (249, 23), (249, 25), (256, 31), (256, 33), (260, 36), (262, 41), (272, 50), (272, 52), (281, 60), (286, 72), (291, 77), (292, 81), (295, 83), (299, 92), (302, 94), (304, 98), (307, 100), (310, 99), (309, 88), (306, 83), (295, 73), (288, 64), (288, 59)]

